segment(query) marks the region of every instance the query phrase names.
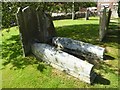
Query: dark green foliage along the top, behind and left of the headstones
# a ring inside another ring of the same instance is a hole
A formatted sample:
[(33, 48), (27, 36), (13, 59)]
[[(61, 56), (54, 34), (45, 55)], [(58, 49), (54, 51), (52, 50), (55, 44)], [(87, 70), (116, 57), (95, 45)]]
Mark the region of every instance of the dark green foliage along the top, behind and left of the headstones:
[[(95, 6), (95, 2), (76, 2), (75, 11), (79, 7)], [(40, 7), (43, 11), (52, 12), (71, 12), (72, 2), (3, 2), (2, 3), (2, 27), (8, 28), (17, 25), (16, 12), (18, 7), (32, 6), (33, 8)]]

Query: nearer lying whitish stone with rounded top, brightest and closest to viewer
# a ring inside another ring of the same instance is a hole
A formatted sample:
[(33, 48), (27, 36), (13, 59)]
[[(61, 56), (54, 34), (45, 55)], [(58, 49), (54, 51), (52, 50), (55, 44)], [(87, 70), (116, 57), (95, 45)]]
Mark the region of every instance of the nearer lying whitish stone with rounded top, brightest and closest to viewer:
[(52, 65), (54, 68), (65, 71), (86, 83), (92, 83), (95, 79), (92, 64), (57, 50), (48, 44), (34, 43), (31, 47), (32, 53), (36, 57)]

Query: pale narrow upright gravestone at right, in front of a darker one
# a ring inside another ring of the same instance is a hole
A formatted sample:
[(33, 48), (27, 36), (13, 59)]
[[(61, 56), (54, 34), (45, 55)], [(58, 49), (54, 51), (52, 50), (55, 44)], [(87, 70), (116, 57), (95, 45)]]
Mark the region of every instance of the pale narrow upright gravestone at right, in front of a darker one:
[(103, 11), (100, 11), (100, 21), (99, 21), (99, 40), (102, 41), (106, 34), (106, 7)]

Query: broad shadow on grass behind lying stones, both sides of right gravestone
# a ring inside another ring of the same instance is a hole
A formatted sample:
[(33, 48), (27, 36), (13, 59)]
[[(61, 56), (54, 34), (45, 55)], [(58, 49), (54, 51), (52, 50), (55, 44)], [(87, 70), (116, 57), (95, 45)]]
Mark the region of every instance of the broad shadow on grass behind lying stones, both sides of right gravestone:
[(80, 25), (70, 25), (57, 27), (57, 35), (60, 37), (68, 37), (76, 40), (81, 40), (84, 42), (92, 44), (102, 44), (104, 43), (118, 43), (118, 36), (120, 36), (120, 30), (117, 25), (110, 25), (113, 30), (108, 30), (108, 34), (103, 42), (99, 42), (99, 25), (98, 24), (80, 24)]

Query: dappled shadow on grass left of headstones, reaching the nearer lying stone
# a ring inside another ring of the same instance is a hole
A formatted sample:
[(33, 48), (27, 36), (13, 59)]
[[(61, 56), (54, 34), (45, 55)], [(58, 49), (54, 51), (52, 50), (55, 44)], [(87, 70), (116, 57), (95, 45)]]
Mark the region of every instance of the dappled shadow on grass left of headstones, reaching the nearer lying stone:
[(41, 72), (45, 68), (45, 65), (36, 60), (33, 55), (23, 57), (22, 45), (19, 35), (12, 35), (11, 38), (2, 42), (2, 58), (2, 65), (6, 66), (8, 64), (12, 64), (11, 69), (23, 69), (26, 66), (33, 64), (37, 64), (37, 69)]

